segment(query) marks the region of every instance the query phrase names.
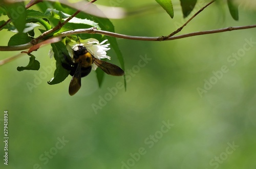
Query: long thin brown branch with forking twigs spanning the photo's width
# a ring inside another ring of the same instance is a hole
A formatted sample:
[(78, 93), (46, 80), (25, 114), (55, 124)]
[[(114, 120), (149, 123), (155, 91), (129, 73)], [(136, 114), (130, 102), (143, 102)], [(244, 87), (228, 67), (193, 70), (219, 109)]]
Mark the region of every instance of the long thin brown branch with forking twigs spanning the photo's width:
[[(86, 5), (90, 5), (97, 0), (92, 0)], [(187, 25), (188, 22), (190, 22), (193, 18), (195, 18), (200, 12), (202, 12), (206, 7), (214, 3), (216, 0), (212, 0), (210, 3), (205, 5), (203, 8), (201, 8), (196, 14), (194, 14), (185, 24), (183, 24), (178, 30), (173, 32), (172, 34), (168, 36), (161, 36), (161, 37), (143, 37), (143, 36), (129, 36), (129, 35), (123, 35), (123, 34), (117, 34), (117, 33), (112, 33), (108, 31), (101, 31), (97, 30), (96, 27), (91, 27), (90, 29), (77, 29), (77, 30), (71, 30), (71, 31), (66, 31), (59, 33), (55, 35), (53, 38), (56, 37), (65, 37), (69, 35), (74, 35), (74, 34), (100, 34), (100, 35), (105, 35), (105, 36), (110, 36), (110, 37), (115, 37), (115, 38), (122, 38), (122, 39), (129, 39), (129, 40), (140, 40), (140, 41), (167, 41), (167, 40), (175, 40), (175, 39), (182, 39), (182, 38), (187, 38), (187, 37), (193, 37), (193, 36), (199, 36), (199, 35), (206, 35), (206, 34), (215, 34), (215, 33), (221, 33), (221, 32), (227, 32), (227, 31), (234, 31), (234, 30), (244, 30), (244, 29), (251, 29), (256, 27), (256, 25), (247, 25), (247, 26), (236, 26), (236, 27), (226, 27), (223, 29), (217, 29), (217, 30), (208, 30), (208, 31), (201, 31), (201, 32), (194, 32), (194, 33), (189, 33), (189, 34), (184, 34), (184, 35), (179, 35), (179, 36), (173, 36), (180, 32), (183, 27)], [(72, 16), (70, 16), (67, 20), (63, 21), (62, 23), (59, 23), (57, 26), (55, 26), (53, 29), (43, 33), (39, 37), (35, 39), (35, 41), (23, 44), (23, 45), (17, 45), (17, 46), (0, 46), (0, 51), (17, 51), (17, 50), (25, 50), (31, 48), (34, 44), (39, 43), (39, 40), (44, 38), (45, 36), (49, 35), (50, 33), (60, 29), (61, 26), (66, 24), (69, 20), (71, 20), (73, 17), (75, 17), (80, 10), (78, 10), (76, 13), (74, 13)], [(49, 39), (48, 39), (49, 40)]]

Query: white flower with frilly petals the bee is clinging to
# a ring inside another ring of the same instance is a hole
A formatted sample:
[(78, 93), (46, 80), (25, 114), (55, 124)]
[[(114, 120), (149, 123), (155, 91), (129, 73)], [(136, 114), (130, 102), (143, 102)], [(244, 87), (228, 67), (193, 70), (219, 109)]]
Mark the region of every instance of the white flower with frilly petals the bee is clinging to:
[[(67, 49), (69, 51), (69, 55), (71, 58), (73, 58), (73, 50), (78, 50), (78, 46), (84, 46), (87, 48), (87, 50), (97, 59), (109, 59), (110, 57), (106, 55), (106, 51), (108, 51), (110, 48), (110, 44), (103, 44), (108, 40), (104, 40), (101, 43), (97, 39), (90, 38), (86, 40), (80, 40), (80, 43), (72, 41), (67, 44)], [(92, 69), (96, 70), (97, 66), (95, 64), (92, 64)]]

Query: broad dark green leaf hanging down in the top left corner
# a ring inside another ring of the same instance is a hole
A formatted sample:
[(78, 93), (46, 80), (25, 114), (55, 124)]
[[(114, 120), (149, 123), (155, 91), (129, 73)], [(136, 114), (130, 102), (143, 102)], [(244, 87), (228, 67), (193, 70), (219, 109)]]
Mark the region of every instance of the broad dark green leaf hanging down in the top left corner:
[(19, 33), (25, 29), (27, 12), (24, 2), (6, 4), (6, 10), (9, 18), (16, 27)]

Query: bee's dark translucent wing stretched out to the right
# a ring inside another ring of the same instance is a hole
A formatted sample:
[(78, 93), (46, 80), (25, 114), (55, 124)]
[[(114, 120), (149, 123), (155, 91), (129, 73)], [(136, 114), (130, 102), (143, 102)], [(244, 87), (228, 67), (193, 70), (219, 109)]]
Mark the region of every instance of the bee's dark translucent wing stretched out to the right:
[(116, 65), (113, 65), (109, 62), (105, 62), (93, 57), (93, 63), (102, 69), (106, 74), (113, 76), (122, 76), (124, 74), (123, 70)]

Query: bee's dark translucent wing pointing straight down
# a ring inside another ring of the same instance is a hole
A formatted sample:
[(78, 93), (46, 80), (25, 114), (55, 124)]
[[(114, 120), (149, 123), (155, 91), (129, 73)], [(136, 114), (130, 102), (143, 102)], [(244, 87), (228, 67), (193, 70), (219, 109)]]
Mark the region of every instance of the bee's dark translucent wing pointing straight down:
[(73, 96), (81, 88), (81, 65), (78, 64), (76, 71), (69, 84), (69, 94)]

